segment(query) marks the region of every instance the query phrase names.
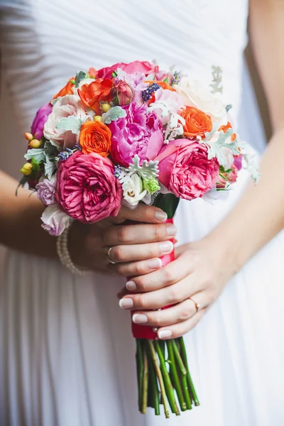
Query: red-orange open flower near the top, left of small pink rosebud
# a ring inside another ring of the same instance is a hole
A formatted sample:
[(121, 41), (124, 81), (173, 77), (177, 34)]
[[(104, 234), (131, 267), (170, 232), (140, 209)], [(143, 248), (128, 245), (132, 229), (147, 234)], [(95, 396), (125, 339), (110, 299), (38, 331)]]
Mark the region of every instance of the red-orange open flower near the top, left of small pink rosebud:
[(84, 84), (81, 89), (78, 89), (78, 94), (87, 107), (94, 109), (96, 114), (100, 114), (99, 102), (111, 102), (111, 87), (111, 79), (98, 78), (90, 84)]

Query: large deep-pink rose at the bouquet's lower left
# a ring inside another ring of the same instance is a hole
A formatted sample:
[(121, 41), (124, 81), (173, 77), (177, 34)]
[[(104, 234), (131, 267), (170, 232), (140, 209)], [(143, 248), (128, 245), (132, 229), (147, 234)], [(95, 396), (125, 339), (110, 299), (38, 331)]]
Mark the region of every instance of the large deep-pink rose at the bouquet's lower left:
[(116, 216), (122, 189), (109, 158), (77, 151), (60, 164), (56, 198), (62, 209), (80, 222), (93, 223)]

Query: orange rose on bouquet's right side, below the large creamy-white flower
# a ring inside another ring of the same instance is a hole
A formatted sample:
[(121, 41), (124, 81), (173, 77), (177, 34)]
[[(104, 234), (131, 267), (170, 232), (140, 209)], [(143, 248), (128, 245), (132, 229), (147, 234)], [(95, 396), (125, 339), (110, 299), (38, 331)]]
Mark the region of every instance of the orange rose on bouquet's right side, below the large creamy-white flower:
[(183, 126), (185, 136), (190, 138), (201, 136), (203, 138), (204, 133), (212, 131), (212, 121), (201, 109), (185, 107), (180, 115), (185, 119), (185, 126)]

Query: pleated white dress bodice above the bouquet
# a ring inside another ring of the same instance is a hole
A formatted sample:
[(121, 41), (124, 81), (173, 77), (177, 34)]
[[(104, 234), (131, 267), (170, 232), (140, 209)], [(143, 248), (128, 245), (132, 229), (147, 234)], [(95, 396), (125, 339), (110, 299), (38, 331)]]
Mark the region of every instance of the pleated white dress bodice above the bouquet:
[(157, 60), (204, 82), (223, 71), (239, 109), (247, 0), (1, 0), (4, 78), (23, 131), (78, 69)]

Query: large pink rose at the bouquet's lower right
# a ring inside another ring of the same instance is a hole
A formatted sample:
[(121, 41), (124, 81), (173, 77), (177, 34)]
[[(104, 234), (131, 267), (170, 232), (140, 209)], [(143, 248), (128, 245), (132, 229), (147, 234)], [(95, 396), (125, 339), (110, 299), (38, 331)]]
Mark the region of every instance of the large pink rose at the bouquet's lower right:
[(208, 160), (207, 146), (198, 141), (170, 141), (155, 160), (159, 160), (160, 182), (185, 200), (202, 197), (218, 179), (217, 159)]

